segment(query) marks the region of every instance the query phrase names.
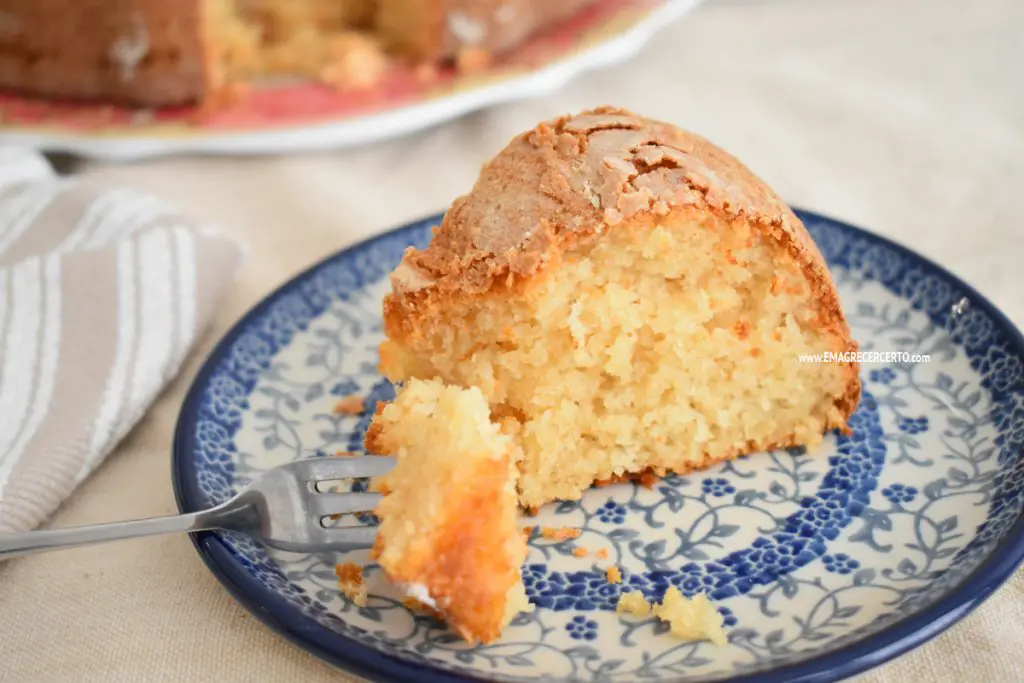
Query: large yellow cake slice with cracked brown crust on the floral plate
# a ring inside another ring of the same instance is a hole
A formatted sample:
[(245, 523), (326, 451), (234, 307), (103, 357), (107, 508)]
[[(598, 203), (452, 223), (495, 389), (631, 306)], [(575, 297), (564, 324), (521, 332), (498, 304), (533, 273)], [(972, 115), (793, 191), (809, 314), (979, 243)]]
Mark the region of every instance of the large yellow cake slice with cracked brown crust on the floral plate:
[(526, 507), (813, 445), (860, 397), (856, 364), (800, 361), (857, 345), (797, 216), (708, 140), (623, 110), (515, 138), (392, 286), (383, 371), (478, 387), (514, 423)]

